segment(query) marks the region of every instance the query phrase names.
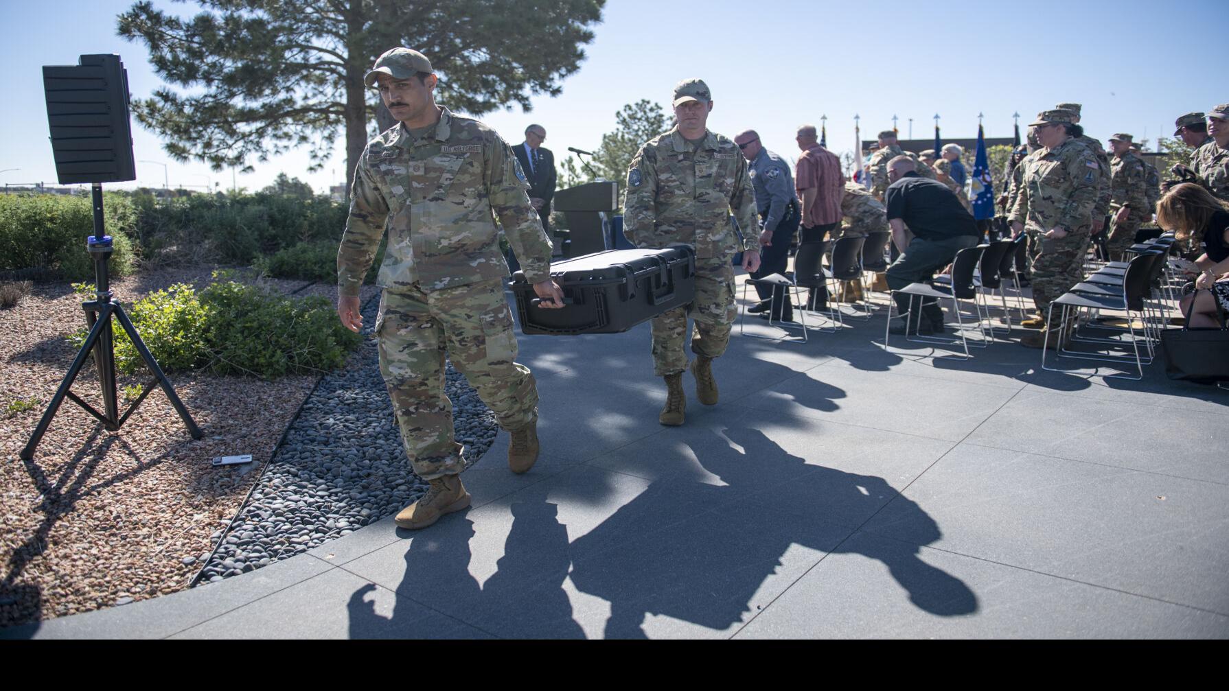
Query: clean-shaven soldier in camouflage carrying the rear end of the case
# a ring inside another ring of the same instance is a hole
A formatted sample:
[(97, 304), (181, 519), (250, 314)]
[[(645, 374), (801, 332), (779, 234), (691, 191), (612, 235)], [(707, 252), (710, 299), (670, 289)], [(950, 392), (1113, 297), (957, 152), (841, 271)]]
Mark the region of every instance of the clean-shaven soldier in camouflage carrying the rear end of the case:
[[(760, 239), (755, 191), (739, 146), (705, 126), (713, 109), (708, 85), (697, 79), (678, 82), (673, 109), (675, 129), (645, 142), (627, 171), (623, 234), (637, 247), (685, 243), (696, 249), (696, 301), (650, 324), (654, 373), (666, 379), (667, 389), (659, 420), (677, 426), (687, 405), (687, 317), (694, 320), (696, 393), (702, 404), (714, 405), (712, 362), (725, 352), (737, 314), (731, 258), (741, 250), (742, 268), (756, 271)], [(729, 222), (731, 209), (741, 237)]]

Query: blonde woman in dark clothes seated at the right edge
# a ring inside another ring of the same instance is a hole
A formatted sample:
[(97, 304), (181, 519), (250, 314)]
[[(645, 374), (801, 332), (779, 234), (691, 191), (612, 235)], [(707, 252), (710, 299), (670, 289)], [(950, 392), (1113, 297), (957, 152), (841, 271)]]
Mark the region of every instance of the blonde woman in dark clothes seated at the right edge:
[(1218, 312), (1229, 313), (1229, 204), (1198, 184), (1182, 183), (1156, 203), (1156, 225), (1202, 245), (1196, 292), (1182, 298), (1182, 314), (1191, 326), (1219, 326)]

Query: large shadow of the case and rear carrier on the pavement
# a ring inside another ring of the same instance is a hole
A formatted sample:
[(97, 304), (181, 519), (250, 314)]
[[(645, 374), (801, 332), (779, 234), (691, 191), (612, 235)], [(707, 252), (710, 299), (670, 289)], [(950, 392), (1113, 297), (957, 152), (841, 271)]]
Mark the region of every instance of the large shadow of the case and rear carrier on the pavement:
[(823, 552), (882, 561), (928, 612), (977, 610), (964, 582), (918, 558), (919, 544), (850, 539), (890, 501), (912, 504), (907, 520), (927, 538), (922, 544), (939, 539), (934, 519), (882, 477), (807, 464), (758, 430), (721, 436), (725, 444), (676, 447), (686, 460), (661, 459), (694, 458), (715, 479), (659, 480), (573, 541), (573, 583), (611, 603), (606, 637), (646, 637), (650, 614), (730, 632)]

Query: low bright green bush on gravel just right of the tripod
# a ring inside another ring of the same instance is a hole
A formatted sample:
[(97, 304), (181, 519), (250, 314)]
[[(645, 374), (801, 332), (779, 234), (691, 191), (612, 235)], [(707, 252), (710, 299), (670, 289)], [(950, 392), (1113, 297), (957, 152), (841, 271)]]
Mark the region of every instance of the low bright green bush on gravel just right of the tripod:
[[(363, 340), (323, 297), (288, 297), (225, 277), (199, 293), (186, 284), (156, 291), (129, 315), (165, 371), (208, 368), (267, 379), (322, 372), (342, 366)], [(82, 329), (69, 340), (80, 347), (85, 338)], [(125, 374), (143, 367), (123, 329), (116, 329), (116, 366)]]

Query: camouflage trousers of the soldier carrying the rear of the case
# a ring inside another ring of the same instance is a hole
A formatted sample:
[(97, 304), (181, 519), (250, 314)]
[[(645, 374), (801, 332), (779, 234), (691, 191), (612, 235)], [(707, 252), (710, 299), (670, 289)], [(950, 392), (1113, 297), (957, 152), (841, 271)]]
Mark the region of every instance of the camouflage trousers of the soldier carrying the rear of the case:
[(734, 266), (730, 258), (696, 261), (696, 299), (664, 312), (649, 323), (653, 333), (653, 373), (658, 377), (687, 369), (687, 318), (694, 322), (692, 352), (720, 357), (730, 344), (730, 326), (739, 311), (734, 306)]

